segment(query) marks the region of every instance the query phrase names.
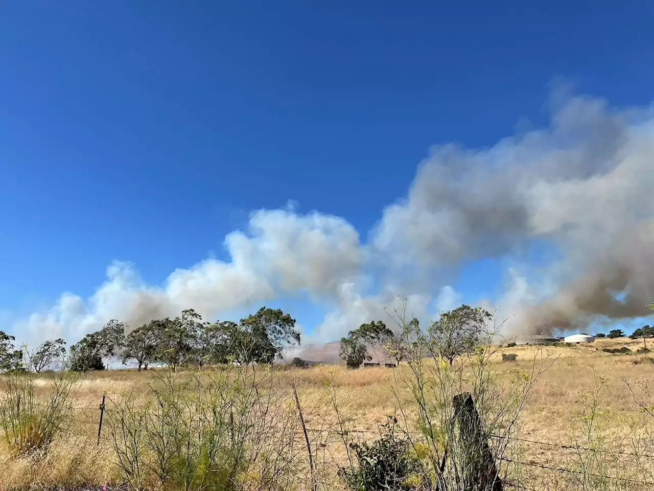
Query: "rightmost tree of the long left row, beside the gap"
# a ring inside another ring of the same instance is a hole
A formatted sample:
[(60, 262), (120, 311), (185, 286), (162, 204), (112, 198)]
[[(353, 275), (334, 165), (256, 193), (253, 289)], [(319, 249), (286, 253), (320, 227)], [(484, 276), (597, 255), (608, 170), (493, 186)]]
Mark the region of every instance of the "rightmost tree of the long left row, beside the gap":
[(281, 359), (288, 344), (300, 344), (296, 320), (278, 308), (260, 308), (239, 322), (237, 345), (243, 361), (272, 363)]

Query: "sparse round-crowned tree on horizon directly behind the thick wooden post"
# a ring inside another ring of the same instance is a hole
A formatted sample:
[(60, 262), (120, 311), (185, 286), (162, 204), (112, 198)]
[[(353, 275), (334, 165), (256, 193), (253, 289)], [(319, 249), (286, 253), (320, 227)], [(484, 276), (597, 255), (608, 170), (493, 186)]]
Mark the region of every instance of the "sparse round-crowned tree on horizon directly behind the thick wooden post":
[(474, 349), (486, 334), (486, 323), (492, 314), (481, 307), (462, 305), (455, 310), (443, 312), (428, 327), (434, 354), (452, 365), (458, 355)]

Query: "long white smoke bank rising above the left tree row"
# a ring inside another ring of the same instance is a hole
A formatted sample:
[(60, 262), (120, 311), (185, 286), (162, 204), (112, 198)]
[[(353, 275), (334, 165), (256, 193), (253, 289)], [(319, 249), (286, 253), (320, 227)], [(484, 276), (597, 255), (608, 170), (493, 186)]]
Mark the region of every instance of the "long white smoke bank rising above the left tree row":
[(184, 308), (212, 318), (295, 291), (329, 296), (358, 274), (362, 255), (356, 230), (345, 220), (290, 210), (252, 213), (247, 233), (228, 234), (225, 246), (230, 262), (206, 259), (177, 269), (161, 287), (146, 285), (133, 264), (116, 261), (90, 299), (64, 293), (48, 312), (18, 322), (15, 332), (31, 342), (77, 340), (112, 318), (137, 327)]

